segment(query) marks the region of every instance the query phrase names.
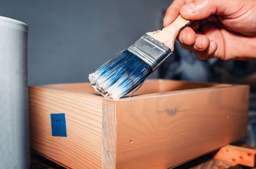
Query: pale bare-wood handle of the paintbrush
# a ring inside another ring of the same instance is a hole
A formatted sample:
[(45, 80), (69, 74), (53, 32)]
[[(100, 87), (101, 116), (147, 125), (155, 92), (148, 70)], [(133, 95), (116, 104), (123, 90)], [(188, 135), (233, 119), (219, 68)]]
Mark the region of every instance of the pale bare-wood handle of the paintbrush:
[(179, 34), (179, 31), (182, 30), (185, 26), (190, 23), (190, 20), (182, 18), (180, 15), (177, 17), (170, 26), (164, 27), (162, 30), (154, 31), (147, 33), (152, 38), (160, 41), (167, 47), (169, 47), (172, 52), (174, 50), (174, 41)]

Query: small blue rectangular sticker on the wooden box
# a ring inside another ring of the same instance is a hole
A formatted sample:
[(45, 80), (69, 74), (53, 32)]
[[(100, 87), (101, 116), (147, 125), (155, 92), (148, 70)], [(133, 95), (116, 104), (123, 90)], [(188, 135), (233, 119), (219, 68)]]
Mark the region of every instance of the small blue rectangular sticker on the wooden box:
[(65, 114), (51, 114), (52, 136), (67, 136)]

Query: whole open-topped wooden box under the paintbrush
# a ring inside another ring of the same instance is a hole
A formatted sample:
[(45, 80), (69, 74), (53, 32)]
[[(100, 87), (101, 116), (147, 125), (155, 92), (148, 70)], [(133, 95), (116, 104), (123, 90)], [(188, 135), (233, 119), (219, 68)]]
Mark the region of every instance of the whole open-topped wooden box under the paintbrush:
[[(86, 83), (31, 86), (31, 148), (67, 168), (173, 168), (244, 138), (248, 98), (246, 85), (172, 80), (118, 101)], [(67, 136), (52, 136), (51, 114)]]

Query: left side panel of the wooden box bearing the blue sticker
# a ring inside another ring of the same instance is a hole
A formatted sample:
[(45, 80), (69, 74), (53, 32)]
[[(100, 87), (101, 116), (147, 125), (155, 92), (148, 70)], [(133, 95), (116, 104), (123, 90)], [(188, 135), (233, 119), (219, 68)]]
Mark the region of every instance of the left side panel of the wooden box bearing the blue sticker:
[[(52, 136), (51, 114), (65, 114), (67, 136)], [(69, 168), (101, 168), (102, 99), (29, 87), (29, 115), (32, 149)]]

